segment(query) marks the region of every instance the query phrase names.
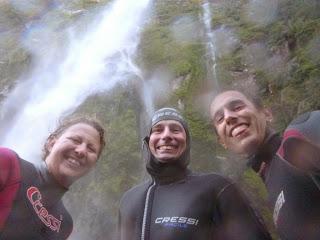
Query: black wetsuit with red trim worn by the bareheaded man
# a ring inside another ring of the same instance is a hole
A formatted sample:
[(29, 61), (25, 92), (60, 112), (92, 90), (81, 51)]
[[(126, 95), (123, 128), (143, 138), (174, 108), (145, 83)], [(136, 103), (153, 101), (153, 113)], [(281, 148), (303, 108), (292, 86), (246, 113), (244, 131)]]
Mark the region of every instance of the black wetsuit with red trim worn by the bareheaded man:
[(319, 140), (320, 112), (306, 113), (289, 125), (283, 139), (268, 134), (249, 161), (262, 174), (282, 240), (320, 239)]

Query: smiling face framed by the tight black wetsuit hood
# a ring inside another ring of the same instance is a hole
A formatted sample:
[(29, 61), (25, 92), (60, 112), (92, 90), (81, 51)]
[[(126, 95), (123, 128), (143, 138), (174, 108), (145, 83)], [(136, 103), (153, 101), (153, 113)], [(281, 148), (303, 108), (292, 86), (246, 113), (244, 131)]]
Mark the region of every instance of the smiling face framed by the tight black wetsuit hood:
[(175, 120), (162, 120), (151, 129), (149, 148), (160, 162), (172, 162), (186, 150), (186, 139), (186, 131), (181, 123)]

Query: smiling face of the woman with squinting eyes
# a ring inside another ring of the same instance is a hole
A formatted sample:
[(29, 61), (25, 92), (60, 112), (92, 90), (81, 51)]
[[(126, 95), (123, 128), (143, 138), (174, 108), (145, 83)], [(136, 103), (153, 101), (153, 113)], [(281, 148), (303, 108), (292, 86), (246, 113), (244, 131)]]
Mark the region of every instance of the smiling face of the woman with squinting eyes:
[(53, 177), (68, 187), (95, 165), (100, 148), (98, 131), (88, 124), (77, 123), (49, 140), (45, 162)]

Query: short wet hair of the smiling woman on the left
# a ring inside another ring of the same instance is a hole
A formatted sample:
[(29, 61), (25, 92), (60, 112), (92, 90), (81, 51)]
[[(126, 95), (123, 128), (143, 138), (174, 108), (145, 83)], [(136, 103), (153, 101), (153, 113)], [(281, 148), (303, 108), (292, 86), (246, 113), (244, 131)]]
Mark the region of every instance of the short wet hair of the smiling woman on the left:
[(54, 138), (59, 138), (68, 128), (79, 123), (89, 125), (94, 129), (96, 129), (97, 132), (99, 133), (99, 140), (100, 140), (100, 150), (98, 153), (98, 158), (99, 158), (102, 153), (102, 150), (104, 149), (104, 146), (106, 145), (105, 129), (102, 127), (101, 123), (96, 119), (89, 118), (89, 117), (76, 117), (76, 118), (71, 118), (71, 119), (61, 121), (58, 127), (56, 128), (56, 130), (53, 131), (47, 137), (42, 149), (42, 159), (45, 160), (49, 155), (48, 145), (50, 140)]

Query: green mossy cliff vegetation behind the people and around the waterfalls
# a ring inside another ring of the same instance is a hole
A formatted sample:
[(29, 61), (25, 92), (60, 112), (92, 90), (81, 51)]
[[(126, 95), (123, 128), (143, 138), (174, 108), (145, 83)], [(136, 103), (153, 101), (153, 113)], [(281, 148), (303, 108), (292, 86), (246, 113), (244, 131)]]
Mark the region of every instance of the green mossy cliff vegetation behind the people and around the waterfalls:
[[(36, 21), (39, 15), (19, 12), (9, 2), (0, 2), (0, 100), (5, 98), (6, 89), (11, 89), (19, 76), (30, 70), (34, 56), (21, 44), (20, 36), (26, 31), (26, 23)], [(109, 1), (60, 2), (62, 8), (48, 8), (41, 14), (43, 21), (63, 41), (65, 36), (59, 34), (61, 28), (73, 23), (77, 23), (79, 29), (87, 28), (90, 26), (87, 22)], [(297, 114), (320, 109), (319, 1), (279, 0), (271, 20), (268, 18), (260, 24), (248, 17), (257, 10), (249, 8), (250, 0), (213, 2), (212, 30), (232, 29), (239, 40), (235, 49), (216, 56), (219, 83), (225, 86), (250, 79), (258, 86), (264, 103), (273, 110), (275, 128), (280, 132)], [(160, 67), (172, 73), (168, 101), (156, 103), (156, 107), (180, 107), (187, 118), (193, 141), (192, 169), (216, 171), (239, 180), (271, 226), (266, 191), (259, 177), (250, 170), (243, 173), (235, 161), (225, 157), (208, 121), (208, 109), (204, 113), (197, 105), (199, 97), (212, 91), (212, 79), (208, 79), (210, 74), (207, 74), (211, 69), (207, 69), (207, 51), (202, 38), (203, 23), (199, 17), (201, 4), (200, 0), (155, 1), (153, 16), (141, 36), (137, 62), (145, 76)], [(173, 26), (183, 18), (188, 19), (193, 32), (189, 38), (179, 39)], [(259, 47), (266, 52), (262, 59), (258, 56)], [(111, 238), (108, 236), (112, 231), (106, 231), (114, 229), (121, 195), (145, 176), (140, 132), (146, 127), (141, 126), (140, 96), (131, 88), (118, 86), (112, 93), (92, 96), (77, 110), (77, 113), (96, 116), (107, 128), (107, 148), (98, 167), (72, 189), (73, 197), (68, 198), (73, 212), (82, 210), (74, 217), (79, 226), (88, 227), (83, 231), (91, 234), (91, 239), (101, 239), (101, 232), (107, 239)], [(84, 192), (90, 196), (83, 197)], [(99, 196), (100, 200), (93, 196)], [(76, 200), (81, 198), (84, 201), (78, 203)], [(90, 205), (96, 206), (99, 212), (88, 208)], [(104, 227), (88, 225), (88, 216), (103, 219)]]

